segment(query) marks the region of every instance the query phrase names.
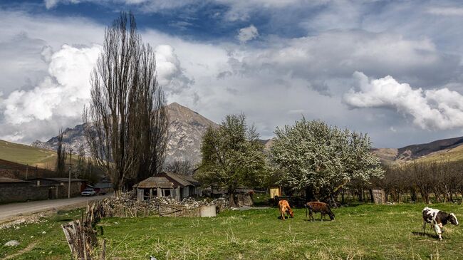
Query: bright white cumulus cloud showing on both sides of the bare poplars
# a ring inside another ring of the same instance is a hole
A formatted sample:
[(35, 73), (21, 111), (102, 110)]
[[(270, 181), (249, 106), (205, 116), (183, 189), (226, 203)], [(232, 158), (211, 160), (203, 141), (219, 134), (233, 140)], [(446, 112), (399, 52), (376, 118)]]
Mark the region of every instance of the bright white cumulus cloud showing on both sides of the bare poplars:
[[(31, 130), (38, 125), (48, 130), (44, 132), (51, 137), (63, 123), (68, 123), (66, 127), (80, 123), (83, 107), (90, 100), (90, 73), (101, 50), (98, 44), (90, 47), (64, 44), (56, 52), (43, 46), (41, 56), (48, 62), (47, 75), (33, 88), (0, 95), (0, 139), (31, 141), (31, 135), (40, 137), (38, 131)], [(174, 48), (160, 45), (155, 54), (157, 78), (166, 93), (182, 93), (189, 88), (192, 80), (184, 76)], [(198, 95), (192, 93), (192, 97), (197, 102)]]

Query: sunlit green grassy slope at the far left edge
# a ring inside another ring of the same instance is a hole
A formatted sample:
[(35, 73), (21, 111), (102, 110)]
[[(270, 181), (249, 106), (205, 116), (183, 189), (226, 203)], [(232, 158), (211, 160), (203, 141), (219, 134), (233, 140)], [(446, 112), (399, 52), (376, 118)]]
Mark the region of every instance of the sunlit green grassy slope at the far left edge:
[(56, 152), (0, 140), (0, 159), (24, 165), (54, 167)]

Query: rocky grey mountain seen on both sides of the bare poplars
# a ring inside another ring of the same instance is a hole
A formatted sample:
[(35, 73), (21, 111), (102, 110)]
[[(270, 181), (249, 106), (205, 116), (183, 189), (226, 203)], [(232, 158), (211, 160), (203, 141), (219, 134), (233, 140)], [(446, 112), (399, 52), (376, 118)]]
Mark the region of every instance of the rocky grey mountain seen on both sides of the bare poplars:
[[(169, 118), (169, 141), (167, 142), (166, 162), (175, 160), (189, 160), (197, 163), (201, 160), (202, 135), (209, 125), (217, 126), (216, 123), (204, 118), (199, 113), (190, 110), (178, 103), (167, 105)], [(85, 125), (76, 125), (75, 128), (67, 128), (63, 131), (63, 145), (66, 150), (70, 148), (78, 152), (83, 149), (86, 155), (90, 154), (84, 135)], [(40, 147), (48, 150), (56, 150), (58, 137), (52, 137), (46, 142), (35, 141), (33, 147)]]

